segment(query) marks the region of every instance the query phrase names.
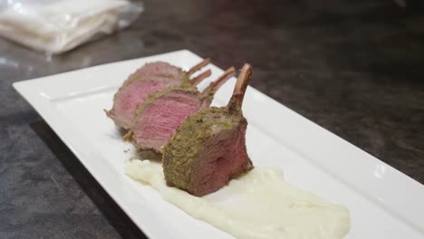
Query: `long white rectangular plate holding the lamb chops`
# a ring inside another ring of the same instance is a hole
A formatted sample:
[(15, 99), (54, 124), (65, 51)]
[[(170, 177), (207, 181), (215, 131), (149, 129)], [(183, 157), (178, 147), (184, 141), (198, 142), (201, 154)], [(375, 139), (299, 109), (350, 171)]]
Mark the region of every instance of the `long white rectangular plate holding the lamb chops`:
[[(201, 58), (183, 50), (20, 81), (14, 88), (150, 238), (232, 238), (123, 174), (134, 149), (103, 109), (111, 109), (114, 92), (131, 72), (159, 60), (188, 69)], [(210, 79), (223, 72), (210, 68)], [(215, 105), (226, 104), (234, 84), (232, 79), (217, 92)], [(243, 110), (255, 166), (280, 167), (294, 185), (347, 206), (352, 228), (346, 238), (424, 238), (424, 186), (417, 181), (251, 87)]]

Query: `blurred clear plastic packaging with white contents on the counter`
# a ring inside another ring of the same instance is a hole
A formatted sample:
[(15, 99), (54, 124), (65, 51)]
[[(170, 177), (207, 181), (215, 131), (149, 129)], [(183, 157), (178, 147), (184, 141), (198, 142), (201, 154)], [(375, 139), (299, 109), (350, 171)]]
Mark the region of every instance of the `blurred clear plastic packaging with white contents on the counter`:
[(0, 35), (49, 54), (130, 25), (143, 11), (127, 0), (0, 0)]

